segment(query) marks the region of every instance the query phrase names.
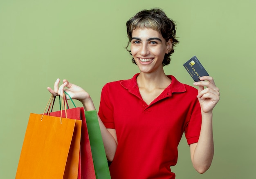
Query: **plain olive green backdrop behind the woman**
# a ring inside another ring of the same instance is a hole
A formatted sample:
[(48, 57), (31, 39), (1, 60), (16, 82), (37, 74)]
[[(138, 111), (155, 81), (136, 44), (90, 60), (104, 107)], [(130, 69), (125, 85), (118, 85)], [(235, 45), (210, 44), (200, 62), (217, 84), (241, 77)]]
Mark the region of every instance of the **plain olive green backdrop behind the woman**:
[(125, 23), (153, 7), (177, 22), (166, 74), (193, 85), (183, 63), (196, 55), (221, 92), (211, 168), (193, 169), (182, 138), (177, 179), (255, 178), (256, 1), (0, 0), (1, 179), (15, 178), (29, 113), (43, 113), (57, 78), (83, 87), (98, 109), (104, 84), (138, 72), (124, 49)]

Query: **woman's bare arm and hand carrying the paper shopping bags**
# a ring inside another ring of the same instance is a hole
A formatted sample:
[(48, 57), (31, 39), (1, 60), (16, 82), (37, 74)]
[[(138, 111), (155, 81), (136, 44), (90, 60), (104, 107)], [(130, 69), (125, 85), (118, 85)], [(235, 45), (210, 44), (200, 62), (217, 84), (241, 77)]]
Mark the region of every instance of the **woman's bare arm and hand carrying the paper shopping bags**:
[[(90, 95), (83, 90), (83, 88), (76, 86), (75, 84), (71, 84), (67, 80), (63, 80), (63, 84), (59, 87), (60, 80), (57, 79), (54, 83), (54, 90), (52, 88), (48, 87), (48, 91), (52, 93), (55, 96), (61, 95), (63, 97), (63, 91), (65, 90), (72, 99), (79, 100), (82, 104), (85, 110), (95, 110), (95, 106), (93, 104), (92, 98)], [(67, 87), (67, 88), (65, 88)], [(64, 89), (65, 88), (65, 89)], [(112, 161), (115, 152), (117, 149), (117, 135), (115, 129), (107, 129), (103, 122), (101, 121), (99, 115), (99, 126), (101, 129), (101, 135), (103, 139), (103, 144), (106, 151), (106, 156), (108, 161)]]

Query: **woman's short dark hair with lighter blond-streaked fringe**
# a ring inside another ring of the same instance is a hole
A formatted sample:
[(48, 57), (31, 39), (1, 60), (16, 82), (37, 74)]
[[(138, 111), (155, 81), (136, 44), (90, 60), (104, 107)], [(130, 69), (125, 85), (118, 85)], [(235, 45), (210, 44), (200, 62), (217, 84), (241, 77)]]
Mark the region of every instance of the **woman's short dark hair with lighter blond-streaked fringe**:
[[(170, 64), (171, 54), (174, 52), (173, 47), (175, 47), (176, 44), (179, 43), (179, 41), (176, 39), (176, 23), (168, 18), (162, 9), (139, 11), (126, 22), (126, 28), (129, 38), (129, 42), (126, 46), (127, 50), (132, 40), (132, 31), (136, 28), (150, 28), (161, 33), (166, 42), (168, 42), (168, 40), (170, 39), (173, 40), (171, 51), (168, 54), (164, 55), (164, 60), (162, 63), (163, 66)], [(130, 50), (128, 51), (131, 52)], [(132, 62), (135, 63), (133, 57)]]

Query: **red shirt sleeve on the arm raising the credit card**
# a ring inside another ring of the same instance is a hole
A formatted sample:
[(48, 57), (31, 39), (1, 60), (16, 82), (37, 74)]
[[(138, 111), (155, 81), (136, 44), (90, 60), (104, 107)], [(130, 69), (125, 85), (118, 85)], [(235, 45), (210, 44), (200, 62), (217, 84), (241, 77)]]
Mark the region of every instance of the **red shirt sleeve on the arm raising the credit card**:
[(201, 115), (201, 107), (198, 99), (191, 104), (191, 109), (189, 113), (189, 121), (185, 126), (185, 136), (187, 143), (193, 144), (198, 142), (201, 130), (202, 123), (202, 115)]

